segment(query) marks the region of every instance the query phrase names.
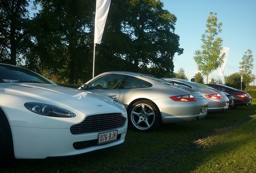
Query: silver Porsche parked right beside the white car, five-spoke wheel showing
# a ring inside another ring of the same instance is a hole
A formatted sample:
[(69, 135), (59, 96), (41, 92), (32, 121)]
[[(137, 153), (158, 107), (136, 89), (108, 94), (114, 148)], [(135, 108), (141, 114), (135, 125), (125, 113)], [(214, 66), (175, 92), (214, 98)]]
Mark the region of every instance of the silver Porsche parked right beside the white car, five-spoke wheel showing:
[(129, 125), (138, 131), (156, 130), (161, 123), (202, 119), (208, 103), (198, 92), (135, 72), (105, 72), (78, 89), (120, 101), (128, 112)]

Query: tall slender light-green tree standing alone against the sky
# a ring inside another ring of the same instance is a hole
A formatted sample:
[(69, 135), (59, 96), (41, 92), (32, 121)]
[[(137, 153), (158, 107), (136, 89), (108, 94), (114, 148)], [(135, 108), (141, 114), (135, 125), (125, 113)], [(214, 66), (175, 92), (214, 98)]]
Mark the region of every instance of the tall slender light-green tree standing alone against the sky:
[(206, 23), (207, 29), (201, 38), (202, 50), (196, 50), (194, 53), (194, 61), (198, 70), (202, 71), (203, 75), (206, 75), (206, 83), (208, 83), (209, 74), (223, 64), (224, 55), (220, 56), (223, 40), (217, 37), (221, 32), (222, 23), (217, 22), (217, 13), (210, 12)]

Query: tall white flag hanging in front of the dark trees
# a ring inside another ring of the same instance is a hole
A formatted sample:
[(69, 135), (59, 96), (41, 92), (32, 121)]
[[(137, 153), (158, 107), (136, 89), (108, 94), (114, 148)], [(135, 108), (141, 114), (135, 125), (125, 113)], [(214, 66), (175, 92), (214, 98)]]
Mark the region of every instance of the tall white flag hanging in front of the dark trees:
[(111, 0), (96, 1), (94, 43), (101, 44), (101, 38), (107, 20), (110, 1)]

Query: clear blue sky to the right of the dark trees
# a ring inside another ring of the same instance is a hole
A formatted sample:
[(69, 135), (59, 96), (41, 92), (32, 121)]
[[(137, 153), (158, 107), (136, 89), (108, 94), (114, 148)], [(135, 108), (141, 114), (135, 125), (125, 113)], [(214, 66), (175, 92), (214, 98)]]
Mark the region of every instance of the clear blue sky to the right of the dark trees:
[[(216, 12), (218, 22), (222, 22), (223, 47), (229, 47), (229, 55), (224, 75), (239, 72), (239, 62), (244, 53), (250, 49), (254, 55), (256, 75), (256, 0), (161, 0), (164, 9), (177, 17), (175, 34), (180, 36), (180, 47), (184, 53), (175, 55), (174, 72), (182, 67), (190, 80), (197, 70), (194, 62), (195, 50), (201, 50), (201, 36), (206, 30), (206, 20), (210, 12)], [(209, 75), (218, 78), (218, 70)], [(224, 81), (223, 76), (220, 76)], [(204, 79), (206, 82), (206, 77)], [(252, 83), (253, 84), (253, 83)]]

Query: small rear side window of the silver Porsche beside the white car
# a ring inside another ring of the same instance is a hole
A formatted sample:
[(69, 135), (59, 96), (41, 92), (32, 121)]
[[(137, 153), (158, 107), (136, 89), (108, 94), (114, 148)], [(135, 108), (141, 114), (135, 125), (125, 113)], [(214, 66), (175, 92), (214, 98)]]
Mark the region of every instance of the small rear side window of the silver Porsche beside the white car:
[(128, 76), (126, 81), (122, 83), (121, 89), (134, 89), (151, 87), (151, 83), (141, 80), (139, 78)]

